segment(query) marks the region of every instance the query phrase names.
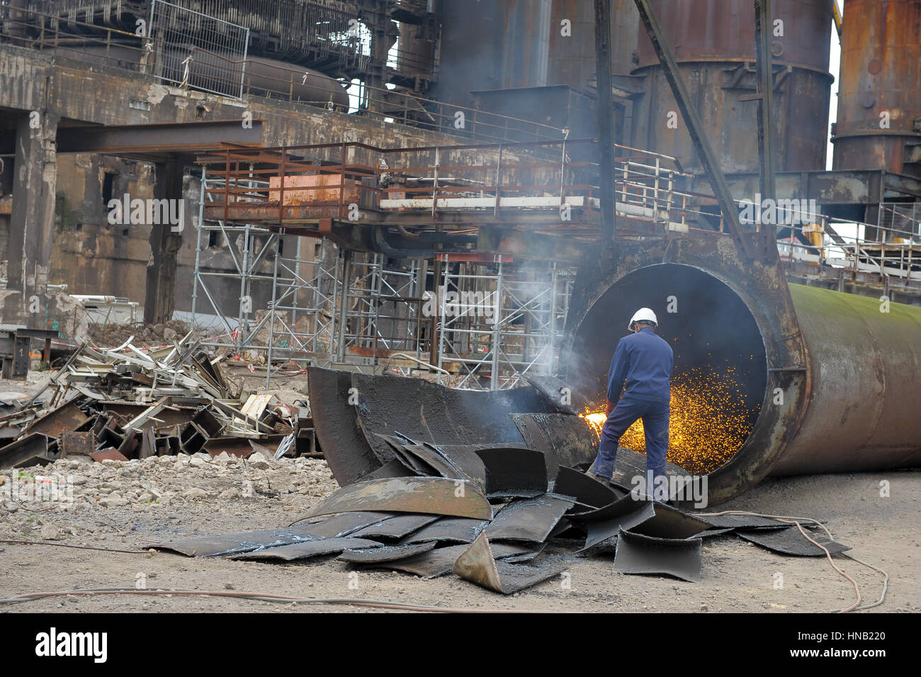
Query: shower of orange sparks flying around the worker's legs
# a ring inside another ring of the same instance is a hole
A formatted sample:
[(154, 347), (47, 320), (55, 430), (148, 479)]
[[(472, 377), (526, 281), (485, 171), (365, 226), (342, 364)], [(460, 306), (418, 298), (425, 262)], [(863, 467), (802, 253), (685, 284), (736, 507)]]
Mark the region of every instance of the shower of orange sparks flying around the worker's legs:
[[(724, 374), (697, 368), (672, 377), (668, 461), (689, 473), (712, 473), (740, 449), (752, 432), (752, 406), (735, 376), (732, 368)], [(600, 436), (603, 407), (580, 415)], [(627, 428), (620, 446), (646, 451), (642, 420)]]

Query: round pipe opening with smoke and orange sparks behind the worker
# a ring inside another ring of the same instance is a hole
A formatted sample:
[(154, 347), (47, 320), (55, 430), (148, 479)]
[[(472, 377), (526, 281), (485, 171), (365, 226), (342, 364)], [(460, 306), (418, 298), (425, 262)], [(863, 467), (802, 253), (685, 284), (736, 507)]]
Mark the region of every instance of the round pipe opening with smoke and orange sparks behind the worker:
[[(745, 443), (765, 401), (762, 334), (742, 298), (699, 268), (663, 263), (625, 275), (589, 309), (573, 341), (569, 373), (594, 395), (583, 415), (596, 432), (614, 348), (644, 306), (656, 312), (657, 333), (674, 352), (668, 461), (689, 473), (713, 473)], [(620, 446), (645, 450), (641, 421)]]

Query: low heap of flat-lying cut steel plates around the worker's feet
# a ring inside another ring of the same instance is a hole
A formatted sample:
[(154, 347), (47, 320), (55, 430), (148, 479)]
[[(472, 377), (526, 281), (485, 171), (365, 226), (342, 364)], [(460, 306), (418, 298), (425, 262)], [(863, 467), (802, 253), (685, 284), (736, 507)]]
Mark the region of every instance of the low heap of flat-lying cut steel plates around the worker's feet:
[(386, 472), (345, 485), (285, 529), (153, 547), (277, 563), (337, 555), (424, 578), (453, 572), (503, 594), (564, 574), (576, 556), (603, 554), (614, 555), (614, 571), (696, 582), (703, 539), (736, 530), (776, 552), (823, 554), (784, 522), (696, 516), (562, 465), (551, 479), (535, 449), (384, 441), (393, 453)]

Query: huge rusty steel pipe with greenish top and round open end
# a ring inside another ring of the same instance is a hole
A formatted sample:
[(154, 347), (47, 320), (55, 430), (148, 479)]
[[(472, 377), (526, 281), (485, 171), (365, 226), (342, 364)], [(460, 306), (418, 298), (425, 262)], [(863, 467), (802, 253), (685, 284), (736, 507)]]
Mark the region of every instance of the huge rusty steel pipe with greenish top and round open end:
[[(647, 306), (674, 349), (676, 374), (731, 368), (752, 404), (749, 437), (708, 475), (711, 503), (768, 475), (921, 465), (915, 411), (921, 309), (817, 287), (789, 290), (806, 348), (803, 365), (772, 363), (778, 327), (743, 286), (693, 265), (640, 267), (612, 283), (573, 329), (570, 378), (600, 402), (622, 327)], [(784, 372), (805, 375), (805, 397), (792, 406), (778, 402)]]

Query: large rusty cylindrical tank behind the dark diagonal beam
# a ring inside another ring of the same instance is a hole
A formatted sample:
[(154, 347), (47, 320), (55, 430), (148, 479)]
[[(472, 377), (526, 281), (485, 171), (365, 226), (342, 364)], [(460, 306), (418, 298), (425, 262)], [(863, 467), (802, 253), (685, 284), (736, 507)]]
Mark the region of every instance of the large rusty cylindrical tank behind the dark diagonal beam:
[[(752, 134), (758, 102), (743, 99), (757, 86), (753, 3), (654, 0), (651, 5), (720, 167), (732, 173), (758, 171), (757, 135)], [(828, 73), (831, 0), (775, 0), (773, 5), (773, 16), (785, 19), (785, 36), (772, 37), (777, 169), (824, 169), (825, 111), (833, 83)], [(631, 145), (680, 158), (683, 169), (700, 174), (703, 167), (685, 125), (675, 130), (658, 123), (678, 108), (646, 31), (640, 32), (639, 64), (633, 73), (645, 76), (648, 93), (634, 109)]]

